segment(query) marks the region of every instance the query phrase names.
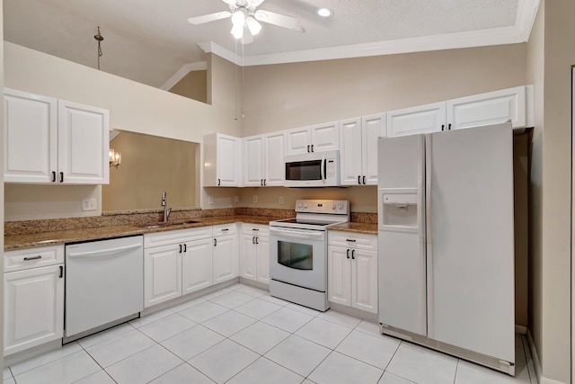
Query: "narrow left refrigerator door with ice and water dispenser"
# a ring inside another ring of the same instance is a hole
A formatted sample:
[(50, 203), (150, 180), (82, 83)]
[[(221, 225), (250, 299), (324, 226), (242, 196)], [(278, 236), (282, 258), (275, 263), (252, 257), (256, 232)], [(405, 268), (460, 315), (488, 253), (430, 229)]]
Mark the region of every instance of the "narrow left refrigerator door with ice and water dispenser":
[(380, 138), (379, 322), (427, 334), (424, 135)]

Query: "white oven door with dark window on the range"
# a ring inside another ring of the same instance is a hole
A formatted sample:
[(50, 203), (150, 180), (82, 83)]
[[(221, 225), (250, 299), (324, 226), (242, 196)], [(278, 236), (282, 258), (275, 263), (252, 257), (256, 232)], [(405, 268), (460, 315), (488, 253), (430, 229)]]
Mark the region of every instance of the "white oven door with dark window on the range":
[(270, 228), (270, 277), (311, 290), (327, 290), (325, 231)]

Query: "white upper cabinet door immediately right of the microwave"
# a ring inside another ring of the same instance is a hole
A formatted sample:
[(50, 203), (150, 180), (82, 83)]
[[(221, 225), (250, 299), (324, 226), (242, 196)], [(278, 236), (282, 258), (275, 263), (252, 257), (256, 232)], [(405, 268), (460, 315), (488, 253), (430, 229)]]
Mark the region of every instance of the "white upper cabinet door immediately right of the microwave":
[(341, 185), (359, 185), (363, 175), (361, 168), (361, 119), (340, 121), (340, 138)]

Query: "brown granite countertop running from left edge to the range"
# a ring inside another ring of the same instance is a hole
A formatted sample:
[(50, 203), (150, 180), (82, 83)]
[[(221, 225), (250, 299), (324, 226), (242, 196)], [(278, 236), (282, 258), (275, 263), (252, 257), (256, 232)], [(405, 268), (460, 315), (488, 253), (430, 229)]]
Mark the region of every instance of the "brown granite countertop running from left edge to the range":
[[(58, 246), (66, 243), (75, 243), (80, 241), (102, 240), (113, 237), (126, 237), (133, 235), (144, 235), (147, 233), (164, 232), (168, 230), (199, 228), (215, 226), (220, 224), (229, 224), (234, 222), (244, 222), (251, 224), (268, 225), (270, 221), (279, 218), (269, 216), (219, 216), (212, 218), (193, 219), (195, 223), (171, 225), (159, 228), (143, 228), (137, 226), (107, 226), (84, 229), (69, 229), (53, 232), (32, 233), (26, 235), (11, 235), (4, 237), (4, 252), (19, 249), (35, 248), (38, 246)], [(175, 221), (174, 221), (175, 222)]]

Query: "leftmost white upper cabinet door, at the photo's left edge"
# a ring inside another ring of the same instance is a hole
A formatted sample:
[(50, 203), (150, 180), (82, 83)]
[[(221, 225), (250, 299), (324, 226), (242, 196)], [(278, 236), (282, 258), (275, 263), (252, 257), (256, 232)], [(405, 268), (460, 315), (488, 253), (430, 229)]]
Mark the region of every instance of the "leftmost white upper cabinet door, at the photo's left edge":
[(52, 183), (57, 171), (57, 100), (4, 89), (4, 182)]

